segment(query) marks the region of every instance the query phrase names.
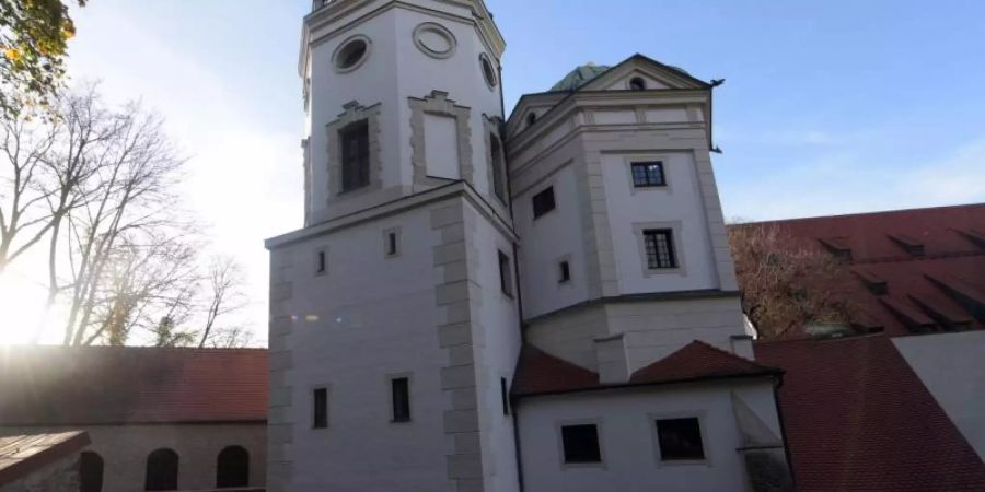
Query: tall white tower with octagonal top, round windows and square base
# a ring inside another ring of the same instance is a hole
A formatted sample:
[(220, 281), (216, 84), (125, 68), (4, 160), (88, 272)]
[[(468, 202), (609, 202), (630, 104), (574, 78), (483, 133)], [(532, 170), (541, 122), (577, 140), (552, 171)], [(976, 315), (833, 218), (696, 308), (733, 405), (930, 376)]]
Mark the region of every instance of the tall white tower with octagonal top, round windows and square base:
[(503, 49), (482, 0), (304, 19), (305, 226), (267, 242), (268, 490), (518, 489)]

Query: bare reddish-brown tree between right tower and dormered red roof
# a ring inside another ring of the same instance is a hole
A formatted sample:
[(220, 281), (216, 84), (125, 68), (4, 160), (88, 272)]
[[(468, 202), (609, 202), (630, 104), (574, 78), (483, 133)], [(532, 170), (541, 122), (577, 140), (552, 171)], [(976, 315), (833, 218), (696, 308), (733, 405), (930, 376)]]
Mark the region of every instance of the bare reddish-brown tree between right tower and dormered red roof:
[(773, 224), (729, 227), (742, 308), (766, 339), (811, 321), (850, 324), (858, 308), (847, 266)]

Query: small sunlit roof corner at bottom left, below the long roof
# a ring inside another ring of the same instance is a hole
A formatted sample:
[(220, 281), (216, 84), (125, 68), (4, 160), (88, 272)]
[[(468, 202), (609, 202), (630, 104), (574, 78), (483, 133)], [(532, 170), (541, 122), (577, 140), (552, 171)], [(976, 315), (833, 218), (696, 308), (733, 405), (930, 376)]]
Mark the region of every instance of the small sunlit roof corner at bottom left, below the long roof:
[(0, 487), (71, 456), (89, 443), (84, 431), (0, 437)]

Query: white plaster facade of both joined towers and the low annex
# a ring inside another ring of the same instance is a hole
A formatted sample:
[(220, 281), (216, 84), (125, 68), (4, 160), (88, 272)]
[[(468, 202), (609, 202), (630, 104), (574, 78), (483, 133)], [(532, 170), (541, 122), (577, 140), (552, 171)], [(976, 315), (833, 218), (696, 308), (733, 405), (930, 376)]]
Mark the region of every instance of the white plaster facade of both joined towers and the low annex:
[[(634, 57), (579, 92), (525, 96), (505, 122), (505, 43), (482, 0), (323, 3), (300, 60), (305, 227), (267, 242), (268, 490), (749, 489), (748, 422), (783, 450), (772, 378), (502, 398), (524, 342), (615, 386), (694, 340), (752, 359), (710, 165), (710, 86)], [(364, 54), (339, 68), (354, 40)], [(633, 78), (649, 90), (630, 91)], [(368, 180), (343, 190), (339, 130), (358, 121)], [(636, 160), (661, 161), (668, 186), (634, 187)], [(547, 187), (556, 208), (534, 219)], [(653, 224), (673, 231), (673, 271), (647, 267), (639, 232)], [(408, 422), (392, 422), (393, 377), (409, 380)], [(313, 429), (322, 388), (327, 426)], [(652, 435), (635, 425), (682, 411), (705, 415), (714, 458), (641, 461)], [(605, 466), (619, 480), (552, 461), (554, 422), (588, 418), (614, 433)]]

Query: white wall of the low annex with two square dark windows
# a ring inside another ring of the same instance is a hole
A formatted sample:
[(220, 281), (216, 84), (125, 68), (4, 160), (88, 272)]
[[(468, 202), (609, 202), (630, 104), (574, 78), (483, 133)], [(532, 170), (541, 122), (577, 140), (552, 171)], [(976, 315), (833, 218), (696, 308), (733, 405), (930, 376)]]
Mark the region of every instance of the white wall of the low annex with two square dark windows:
[[(780, 435), (769, 382), (673, 385), (521, 401), (520, 443), (526, 490), (565, 492), (742, 491), (745, 468), (735, 452), (740, 434), (732, 414), (734, 390)], [(653, 417), (699, 415), (706, 464), (658, 460)], [(561, 422), (596, 420), (604, 465), (565, 467)]]

